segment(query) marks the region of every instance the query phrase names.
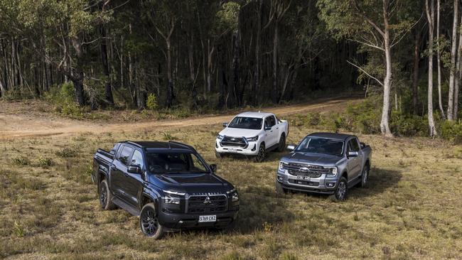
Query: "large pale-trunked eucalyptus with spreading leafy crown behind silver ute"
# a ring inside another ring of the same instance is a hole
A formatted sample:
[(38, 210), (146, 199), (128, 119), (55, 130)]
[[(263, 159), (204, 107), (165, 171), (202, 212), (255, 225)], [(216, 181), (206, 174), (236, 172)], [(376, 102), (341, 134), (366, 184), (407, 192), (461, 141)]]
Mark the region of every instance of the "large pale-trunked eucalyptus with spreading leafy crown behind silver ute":
[(319, 0), (319, 16), (336, 38), (349, 38), (368, 52), (378, 51), (385, 56), (385, 72), (371, 75), (360, 65), (350, 63), (383, 87), (382, 119), (380, 130), (392, 136), (389, 126), (390, 90), (392, 88), (392, 48), (414, 25), (414, 17), (400, 13), (405, 0)]

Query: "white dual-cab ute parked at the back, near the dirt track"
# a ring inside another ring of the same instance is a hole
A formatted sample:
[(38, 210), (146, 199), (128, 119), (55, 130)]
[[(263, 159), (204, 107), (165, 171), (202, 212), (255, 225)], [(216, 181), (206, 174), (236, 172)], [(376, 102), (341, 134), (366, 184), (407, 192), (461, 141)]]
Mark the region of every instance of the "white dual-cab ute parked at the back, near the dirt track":
[(243, 112), (230, 123), (223, 123), (215, 141), (215, 155), (220, 158), (225, 153), (254, 156), (261, 162), (268, 151), (284, 151), (289, 124), (272, 113)]

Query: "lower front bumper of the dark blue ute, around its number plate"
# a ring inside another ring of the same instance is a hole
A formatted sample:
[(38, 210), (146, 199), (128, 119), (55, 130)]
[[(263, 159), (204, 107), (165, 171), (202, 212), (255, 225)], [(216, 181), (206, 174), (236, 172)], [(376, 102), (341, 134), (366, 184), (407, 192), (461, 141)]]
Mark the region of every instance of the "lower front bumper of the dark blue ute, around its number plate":
[[(237, 219), (239, 210), (229, 210), (222, 213), (190, 214), (159, 212), (159, 223), (170, 229), (200, 228), (200, 227), (227, 227)], [(201, 215), (217, 215), (216, 222), (199, 222)]]

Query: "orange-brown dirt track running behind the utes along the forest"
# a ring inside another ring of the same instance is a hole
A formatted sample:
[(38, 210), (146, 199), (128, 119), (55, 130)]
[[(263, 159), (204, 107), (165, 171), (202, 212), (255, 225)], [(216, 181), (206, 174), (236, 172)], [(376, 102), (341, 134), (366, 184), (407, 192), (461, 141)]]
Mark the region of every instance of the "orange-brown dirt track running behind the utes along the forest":
[[(297, 104), (272, 109), (277, 115), (284, 116), (300, 112), (340, 112), (345, 109), (348, 102), (355, 102), (358, 98), (323, 99), (310, 104)], [(8, 104), (3, 104), (8, 106)], [(32, 114), (32, 115), (31, 115)], [(139, 123), (105, 123), (95, 121), (78, 121), (53, 117), (37, 117), (33, 113), (4, 112), (0, 111), (0, 141), (16, 139), (26, 136), (53, 136), (60, 134), (79, 134), (85, 132), (102, 133), (107, 131), (131, 131), (135, 129), (159, 128), (159, 127), (183, 127), (198, 126), (204, 124), (220, 124), (229, 121), (232, 115), (190, 117), (178, 120), (142, 121)]]

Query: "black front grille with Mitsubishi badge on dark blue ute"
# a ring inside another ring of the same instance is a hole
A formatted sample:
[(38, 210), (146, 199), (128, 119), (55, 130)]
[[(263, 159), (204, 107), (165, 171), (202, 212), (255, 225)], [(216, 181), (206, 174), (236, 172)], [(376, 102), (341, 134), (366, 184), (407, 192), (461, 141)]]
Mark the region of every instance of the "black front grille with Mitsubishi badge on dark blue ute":
[[(210, 204), (205, 204), (209, 197)], [(217, 213), (226, 211), (225, 195), (200, 195), (190, 196), (188, 199), (188, 213)]]

